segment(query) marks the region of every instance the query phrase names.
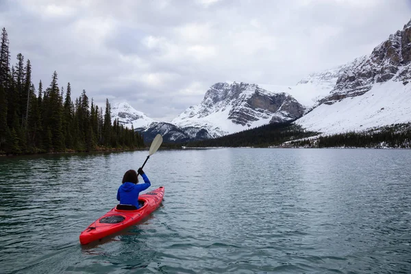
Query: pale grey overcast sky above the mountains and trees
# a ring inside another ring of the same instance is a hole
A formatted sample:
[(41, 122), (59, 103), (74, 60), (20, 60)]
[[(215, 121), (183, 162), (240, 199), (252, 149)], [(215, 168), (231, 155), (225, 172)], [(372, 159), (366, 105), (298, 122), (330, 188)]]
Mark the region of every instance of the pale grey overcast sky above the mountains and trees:
[(216, 82), (296, 84), (402, 29), (411, 0), (0, 0), (12, 63), (170, 121)]

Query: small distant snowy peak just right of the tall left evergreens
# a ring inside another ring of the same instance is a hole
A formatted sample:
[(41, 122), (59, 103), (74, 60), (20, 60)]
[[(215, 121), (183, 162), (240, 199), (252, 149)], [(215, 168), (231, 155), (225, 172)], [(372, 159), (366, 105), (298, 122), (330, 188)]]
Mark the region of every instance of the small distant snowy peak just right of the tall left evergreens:
[(133, 126), (135, 129), (138, 127), (148, 127), (151, 123), (155, 122), (146, 114), (135, 110), (127, 102), (113, 105), (111, 108), (111, 118), (112, 120), (118, 118), (125, 127), (131, 128)]

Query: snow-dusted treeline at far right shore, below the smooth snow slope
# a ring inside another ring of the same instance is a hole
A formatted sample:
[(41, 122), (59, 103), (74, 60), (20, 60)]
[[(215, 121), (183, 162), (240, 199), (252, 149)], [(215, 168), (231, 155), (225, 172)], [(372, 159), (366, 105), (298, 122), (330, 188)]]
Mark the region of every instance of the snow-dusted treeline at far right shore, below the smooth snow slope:
[(312, 140), (290, 142), (292, 147), (390, 147), (411, 148), (411, 123), (395, 124), (369, 132), (347, 132)]

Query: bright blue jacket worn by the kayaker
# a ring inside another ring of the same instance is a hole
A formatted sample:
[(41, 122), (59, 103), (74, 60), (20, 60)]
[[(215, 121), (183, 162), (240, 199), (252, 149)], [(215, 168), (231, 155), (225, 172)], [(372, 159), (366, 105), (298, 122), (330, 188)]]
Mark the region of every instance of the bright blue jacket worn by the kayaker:
[(131, 182), (121, 184), (119, 190), (117, 190), (117, 200), (119, 200), (122, 205), (133, 205), (140, 208), (140, 206), (138, 206), (138, 194), (140, 191), (146, 190), (151, 186), (147, 175), (143, 174), (141, 177), (144, 180), (144, 184), (133, 184)]

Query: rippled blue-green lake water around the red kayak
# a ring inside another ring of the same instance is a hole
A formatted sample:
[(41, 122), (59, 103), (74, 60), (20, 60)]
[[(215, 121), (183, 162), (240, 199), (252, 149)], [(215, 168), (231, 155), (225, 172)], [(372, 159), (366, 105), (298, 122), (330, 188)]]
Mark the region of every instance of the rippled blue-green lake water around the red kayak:
[(411, 150), (158, 151), (162, 206), (81, 246), (147, 154), (0, 158), (0, 272), (411, 273)]

